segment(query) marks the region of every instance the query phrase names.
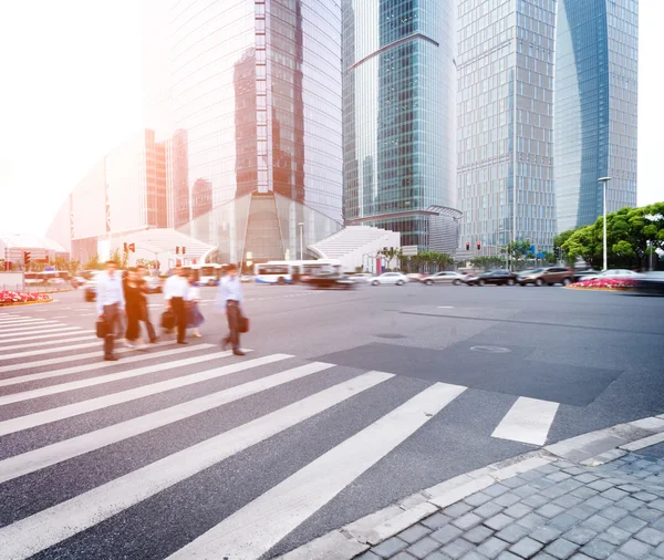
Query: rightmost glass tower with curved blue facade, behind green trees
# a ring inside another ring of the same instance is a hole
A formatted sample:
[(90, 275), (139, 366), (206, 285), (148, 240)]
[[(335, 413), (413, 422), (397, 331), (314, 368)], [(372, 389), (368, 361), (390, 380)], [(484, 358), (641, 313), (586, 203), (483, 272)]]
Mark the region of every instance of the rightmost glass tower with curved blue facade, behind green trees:
[(637, 0), (560, 0), (556, 53), (558, 229), (636, 206)]

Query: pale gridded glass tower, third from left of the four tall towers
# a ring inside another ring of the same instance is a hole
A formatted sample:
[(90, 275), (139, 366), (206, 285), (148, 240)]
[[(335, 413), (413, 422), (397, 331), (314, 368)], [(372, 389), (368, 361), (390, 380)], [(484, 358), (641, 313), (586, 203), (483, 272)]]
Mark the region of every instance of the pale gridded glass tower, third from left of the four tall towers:
[(468, 257), (497, 255), (510, 240), (552, 249), (556, 4), (458, 3), (457, 186)]

